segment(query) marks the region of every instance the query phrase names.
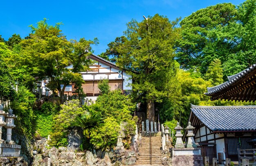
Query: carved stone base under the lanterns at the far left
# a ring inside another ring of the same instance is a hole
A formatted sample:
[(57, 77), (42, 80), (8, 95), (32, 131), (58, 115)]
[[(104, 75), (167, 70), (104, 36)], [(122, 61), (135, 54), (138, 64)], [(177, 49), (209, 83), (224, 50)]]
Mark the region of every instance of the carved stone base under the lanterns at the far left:
[(0, 144), (0, 157), (20, 157), (20, 145)]

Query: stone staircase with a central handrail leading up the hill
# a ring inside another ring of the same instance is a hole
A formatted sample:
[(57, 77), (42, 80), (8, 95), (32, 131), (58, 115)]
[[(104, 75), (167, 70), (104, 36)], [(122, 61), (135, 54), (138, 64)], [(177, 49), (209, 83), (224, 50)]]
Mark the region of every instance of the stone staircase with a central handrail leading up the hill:
[[(150, 165), (150, 138), (142, 137), (142, 144), (139, 147), (139, 159), (136, 162), (137, 166)], [(151, 137), (151, 150), (152, 150), (152, 164), (160, 166), (162, 165), (162, 153), (160, 148), (162, 147), (161, 137), (153, 136)]]

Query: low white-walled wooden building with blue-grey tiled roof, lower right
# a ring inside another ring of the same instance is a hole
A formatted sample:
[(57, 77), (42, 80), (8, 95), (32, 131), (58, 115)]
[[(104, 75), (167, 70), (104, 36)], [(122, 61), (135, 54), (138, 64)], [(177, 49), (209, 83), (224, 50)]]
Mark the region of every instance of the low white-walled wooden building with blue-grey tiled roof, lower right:
[(189, 116), (195, 127), (195, 142), (202, 156), (224, 162), (238, 161), (240, 149), (256, 148), (250, 143), (256, 138), (256, 106), (196, 106), (191, 105)]

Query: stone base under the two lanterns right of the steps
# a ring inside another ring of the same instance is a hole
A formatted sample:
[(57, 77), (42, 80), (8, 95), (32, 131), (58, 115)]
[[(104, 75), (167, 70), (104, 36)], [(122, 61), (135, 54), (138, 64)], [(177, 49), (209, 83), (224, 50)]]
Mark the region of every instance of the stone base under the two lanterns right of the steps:
[(173, 166), (204, 166), (201, 155), (179, 155), (173, 157)]

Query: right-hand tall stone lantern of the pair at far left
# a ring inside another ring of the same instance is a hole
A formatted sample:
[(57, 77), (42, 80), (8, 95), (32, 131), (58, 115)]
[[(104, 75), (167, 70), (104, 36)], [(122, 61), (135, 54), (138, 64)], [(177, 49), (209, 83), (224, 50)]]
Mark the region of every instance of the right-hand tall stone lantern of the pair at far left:
[(7, 134), (6, 134), (6, 142), (9, 142), (9, 144), (15, 144), (14, 141), (11, 140), (11, 131), (15, 126), (14, 124), (14, 119), (16, 119), (17, 117), (15, 115), (12, 114), (12, 109), (10, 108), (8, 110), (8, 114), (6, 116), (6, 125), (4, 126), (7, 130)]

